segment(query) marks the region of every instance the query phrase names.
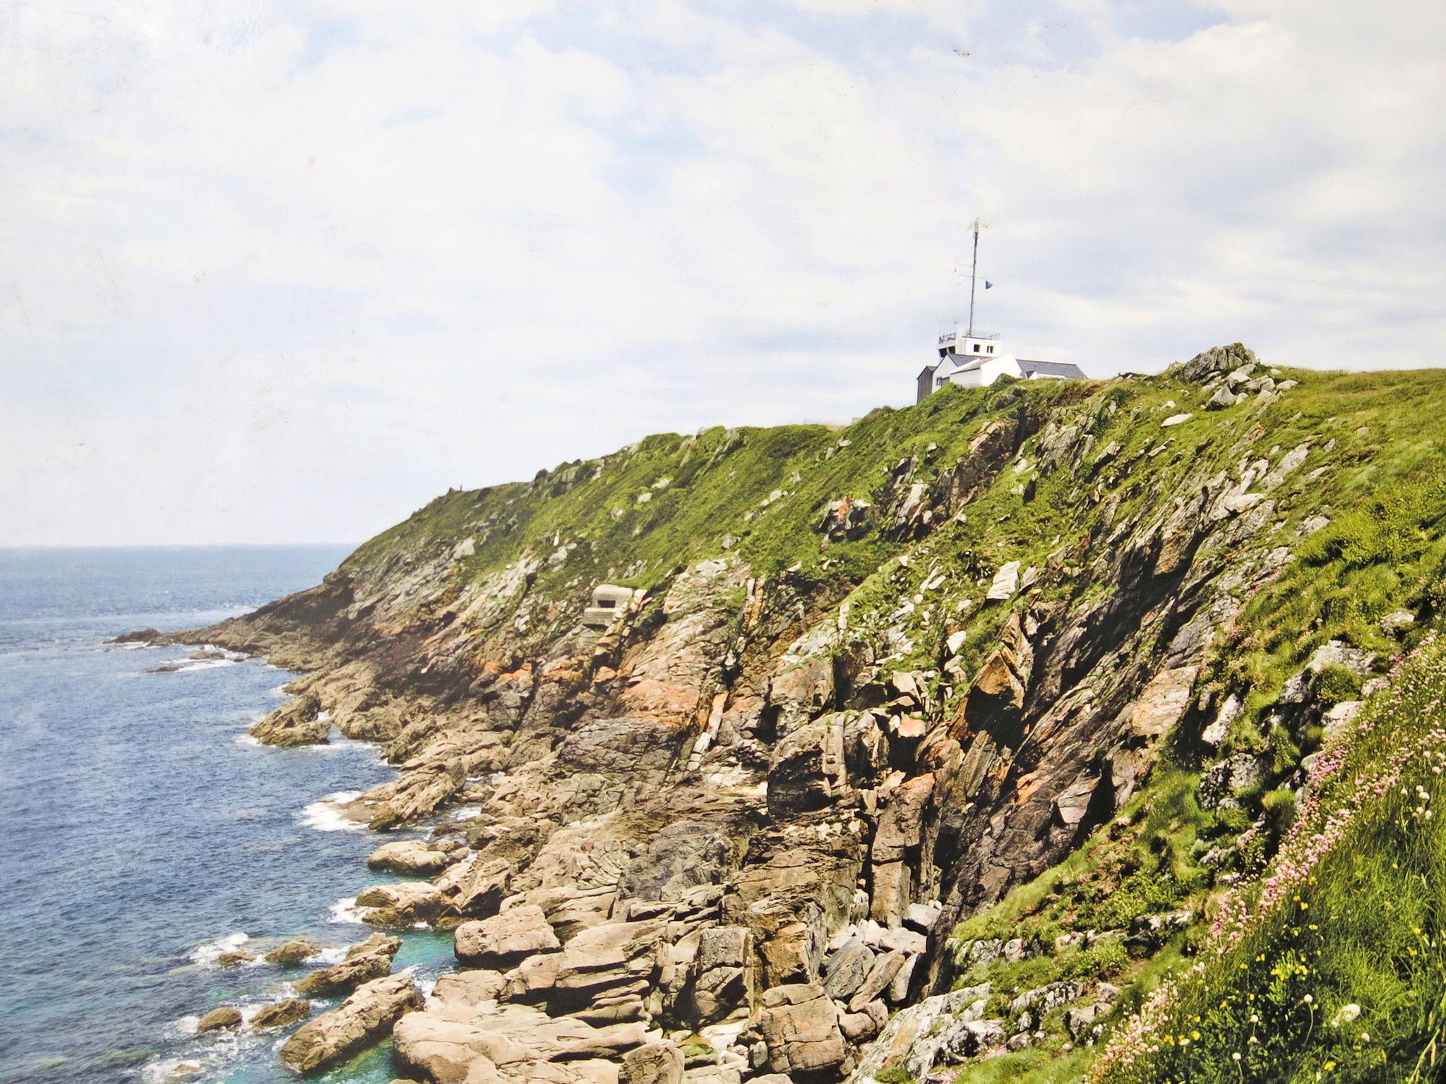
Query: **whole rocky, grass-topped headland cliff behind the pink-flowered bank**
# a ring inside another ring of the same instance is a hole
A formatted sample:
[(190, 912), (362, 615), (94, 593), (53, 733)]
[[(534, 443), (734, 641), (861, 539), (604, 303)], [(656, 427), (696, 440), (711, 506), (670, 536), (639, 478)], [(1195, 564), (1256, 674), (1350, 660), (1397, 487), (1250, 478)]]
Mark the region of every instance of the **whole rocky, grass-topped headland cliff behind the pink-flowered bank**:
[(455, 928), (399, 1074), (1079, 1077), (1446, 603), (1442, 406), (1235, 345), (654, 436), (187, 639), (305, 671), (256, 737), (377, 741), (348, 812), (432, 825), (359, 898)]

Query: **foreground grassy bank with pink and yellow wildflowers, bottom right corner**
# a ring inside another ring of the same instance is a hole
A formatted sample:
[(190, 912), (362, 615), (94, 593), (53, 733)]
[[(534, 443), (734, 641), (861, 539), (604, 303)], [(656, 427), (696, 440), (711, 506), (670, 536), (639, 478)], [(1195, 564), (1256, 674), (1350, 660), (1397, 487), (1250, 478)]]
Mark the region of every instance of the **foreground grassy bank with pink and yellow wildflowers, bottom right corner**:
[[(1446, 814), (1433, 806), (1443, 702), (1446, 646), (1430, 640), (1369, 704), (1361, 730), (1325, 753), (1339, 767), (1319, 782), (1268, 876), (1242, 892), (1246, 916), (1228, 922), (1167, 1006), (1147, 1015), (1151, 1038), (1125, 1046), (1145, 1054), (1108, 1059), (1098, 1080), (1439, 1078)], [(1319, 834), (1330, 843), (1323, 854), (1312, 844)], [(1280, 903), (1261, 913), (1265, 890)]]

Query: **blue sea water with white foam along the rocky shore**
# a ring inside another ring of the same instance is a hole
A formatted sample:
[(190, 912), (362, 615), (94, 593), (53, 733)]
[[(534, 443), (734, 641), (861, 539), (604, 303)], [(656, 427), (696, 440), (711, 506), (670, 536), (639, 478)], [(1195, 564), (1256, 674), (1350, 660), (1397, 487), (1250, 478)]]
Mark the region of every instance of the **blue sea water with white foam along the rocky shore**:
[[(208, 1009), (259, 1007), (295, 977), (214, 957), (302, 934), (340, 951), (372, 932), (344, 903), (379, 880), (364, 866), (377, 841), (321, 799), (392, 769), (354, 741), (249, 741), (292, 676), (265, 661), (103, 642), (243, 613), (344, 555), (0, 551), (0, 1081), (295, 1080), (276, 1061), (285, 1032), (194, 1033)], [(179, 668), (150, 672), (162, 663)], [(425, 984), (450, 948), (408, 935), (396, 965)], [(382, 1048), (322, 1080), (386, 1081), (389, 1062)]]

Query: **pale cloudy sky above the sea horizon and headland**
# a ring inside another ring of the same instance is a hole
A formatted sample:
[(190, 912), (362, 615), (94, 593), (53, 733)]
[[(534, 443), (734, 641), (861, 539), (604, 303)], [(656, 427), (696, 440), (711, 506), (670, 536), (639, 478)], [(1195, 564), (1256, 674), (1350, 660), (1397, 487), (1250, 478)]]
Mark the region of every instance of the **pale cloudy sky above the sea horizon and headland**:
[(1022, 357), (1446, 360), (1439, 0), (0, 0), (0, 545), (360, 542)]

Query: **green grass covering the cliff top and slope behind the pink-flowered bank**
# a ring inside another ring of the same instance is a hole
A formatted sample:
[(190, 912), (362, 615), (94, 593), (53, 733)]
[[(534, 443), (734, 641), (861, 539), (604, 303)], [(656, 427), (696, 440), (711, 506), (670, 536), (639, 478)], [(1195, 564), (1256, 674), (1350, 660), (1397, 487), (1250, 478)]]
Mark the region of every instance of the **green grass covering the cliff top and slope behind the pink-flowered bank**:
[[(1244, 600), (1233, 635), (1213, 653), (1200, 682), (1202, 695), (1235, 694), (1245, 704), (1222, 752), (1264, 754), (1270, 762), (1265, 783), (1246, 795), (1244, 809), (1202, 809), (1196, 785), (1207, 750), (1177, 736), (1121, 824), (1098, 833), (1058, 869), (970, 919), (960, 938), (1009, 931), (1048, 941), (1073, 929), (1126, 926), (1139, 915), (1173, 908), (1209, 913), (1218, 906), (1220, 873), (1244, 876), (1246, 892), (1259, 883), (1257, 874), (1293, 812), (1293, 799), (1281, 785), (1320, 739), (1312, 728), (1287, 733), (1264, 726), (1284, 681), (1330, 639), (1390, 656), (1400, 645), (1381, 632), (1379, 619), (1400, 606), (1427, 617), (1446, 610), (1446, 449), (1439, 436), (1446, 371), (1288, 376), (1300, 386), (1265, 410), (1252, 403), (1207, 413), (1197, 386), (1167, 374), (1105, 384), (946, 389), (921, 406), (875, 410), (842, 431), (785, 426), (652, 436), (600, 461), (562, 464), (532, 483), (440, 497), (366, 543), (348, 559), (347, 571), (356, 577), (393, 575), (418, 554), (447, 552), (470, 536), (476, 551), (454, 569), (458, 585), (493, 574), (525, 552), (541, 558), (561, 552), (542, 567), (534, 591), (573, 606), (596, 581), (655, 587), (685, 562), (732, 551), (762, 575), (797, 568), (807, 578), (846, 581), (856, 635), (878, 636), (891, 626), (907, 632), (891, 665), (937, 666), (944, 636), (964, 629), (963, 662), (970, 671), (992, 649), (1006, 610), (960, 610), (960, 604), (979, 598), (999, 562), (1043, 565), (1047, 554), (1086, 532), (1102, 538), (1112, 523), (1137, 513), (1145, 520), (1160, 515), (1202, 470), (1233, 473), (1242, 458), (1257, 457), (1275, 464), (1285, 451), (1310, 442), (1304, 464), (1272, 494), (1283, 528), (1262, 532), (1270, 536), (1258, 541), (1261, 548), (1290, 545), (1297, 559)], [(1041, 438), (1034, 436), (1021, 460), (966, 509), (963, 522), (938, 528), (917, 543), (891, 539), (875, 525), (856, 542), (820, 546), (817, 525), (829, 502), (886, 497), (892, 470), (910, 457), (918, 461), (914, 477), (928, 481), (953, 467), (988, 422), (1021, 408), (1082, 425), (1095, 451), (1109, 444), (1119, 449), (1099, 468), (1041, 471)], [(1160, 421), (1176, 409), (1194, 416), (1163, 431)], [(1163, 452), (1148, 455), (1167, 439)], [(649, 496), (639, 500), (642, 494)], [(1296, 536), (1297, 526), (1322, 515), (1332, 520), (1329, 528)], [(943, 582), (933, 593), (924, 591), (936, 571), (944, 572)], [(1070, 606), (1108, 590), (1108, 582), (1087, 574), (1043, 588), (1045, 597)], [(901, 616), (901, 601), (915, 595), (927, 597), (925, 603)], [(560, 610), (560, 623), (573, 620), (567, 607)], [(554, 633), (549, 627), (535, 630), (539, 640)], [(1346, 688), (1340, 695), (1351, 692)], [(1251, 828), (1257, 821), (1262, 827)], [(1236, 846), (1242, 837), (1244, 846)], [(1229, 860), (1207, 869), (1202, 859), (1210, 848), (1228, 851)], [(1353, 870), (1330, 877), (1338, 896), (1353, 898)], [(1439, 885), (1429, 887), (1440, 895)], [(1403, 922), (1391, 921), (1394, 935), (1408, 928)], [(1067, 951), (1028, 961), (1032, 973), (1004, 967), (991, 977), (1004, 991), (1061, 974), (1109, 977), (1126, 986), (1118, 1020), (1160, 976), (1212, 948), (1209, 928), (1196, 922), (1151, 960), (1103, 950), (1093, 955)], [(1200, 989), (1229, 1005), (1229, 990), (1249, 987), (1246, 973), (1225, 981), (1212, 970)], [(1362, 1006), (1385, 1003), (1384, 994), (1342, 983), (1332, 999), (1349, 994)], [(1323, 989), (1320, 997), (1326, 996)], [(1053, 1038), (1041, 1048), (980, 1065), (963, 1078), (1079, 1078), (1095, 1051), (1064, 1057), (1057, 1019), (1048, 1025)], [(1319, 1044), (1319, 1019), (1316, 1025), (1313, 1042)], [(1296, 1045), (1301, 1041), (1291, 1038)], [(1400, 1051), (1408, 1048), (1410, 1041), (1403, 1039)], [(1326, 1059), (1332, 1058), (1338, 1068), (1346, 1064), (1335, 1055)], [(1233, 1061), (1225, 1068), (1225, 1075), (1239, 1078), (1241, 1067)], [(1251, 1070), (1255, 1075), (1248, 1078), (1290, 1078), (1270, 1075), (1278, 1068)], [(1131, 1072), (1135, 1080), (1178, 1080), (1168, 1065), (1139, 1068), (1137, 1062)], [(1215, 1078), (1203, 1064), (1192, 1072), (1193, 1080)]]

